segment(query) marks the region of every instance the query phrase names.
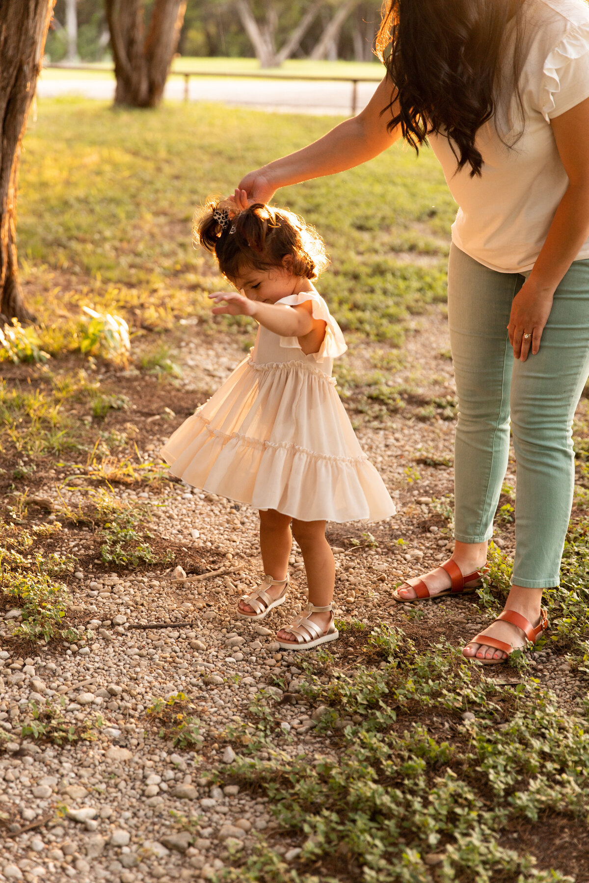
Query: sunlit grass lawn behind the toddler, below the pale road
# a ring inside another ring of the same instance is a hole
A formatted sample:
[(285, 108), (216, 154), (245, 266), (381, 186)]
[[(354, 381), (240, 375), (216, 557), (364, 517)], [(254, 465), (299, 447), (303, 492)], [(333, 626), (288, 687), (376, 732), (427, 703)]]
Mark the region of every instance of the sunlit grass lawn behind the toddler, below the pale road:
[[(21, 170), (19, 255), (42, 348), (77, 349), (85, 305), (143, 328), (173, 328), (191, 314), (212, 325), (206, 295), (226, 283), (193, 249), (194, 208), (331, 125), (300, 116), (277, 125), (269, 114), (204, 104), (148, 113), (40, 100)], [(445, 298), (455, 206), (429, 151), (417, 159), (396, 146), (338, 177), (285, 188), (276, 202), (325, 238), (333, 265), (319, 288), (344, 330), (399, 343), (412, 314)]]

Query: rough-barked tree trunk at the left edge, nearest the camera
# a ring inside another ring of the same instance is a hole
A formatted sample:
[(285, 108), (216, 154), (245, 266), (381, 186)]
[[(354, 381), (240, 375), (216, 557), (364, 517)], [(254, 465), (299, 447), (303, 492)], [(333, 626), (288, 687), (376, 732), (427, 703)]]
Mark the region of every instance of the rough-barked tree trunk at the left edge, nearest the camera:
[(19, 283), (16, 205), (26, 117), (55, 0), (0, 0), (0, 321), (30, 321)]

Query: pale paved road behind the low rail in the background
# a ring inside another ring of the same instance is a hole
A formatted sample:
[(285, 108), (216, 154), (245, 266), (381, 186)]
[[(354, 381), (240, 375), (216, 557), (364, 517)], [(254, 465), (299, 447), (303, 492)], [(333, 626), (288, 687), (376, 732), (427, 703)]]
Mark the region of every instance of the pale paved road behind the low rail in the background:
[[(358, 84), (357, 111), (364, 108), (374, 94), (376, 83)], [(175, 101), (184, 98), (184, 79), (170, 77), (165, 89), (165, 97)], [(76, 76), (74, 72), (67, 78), (59, 79), (52, 72), (42, 75), (37, 85), (41, 97), (57, 97), (76, 94), (85, 98), (110, 100), (114, 96), (115, 82), (101, 74)], [(350, 82), (305, 81), (296, 79), (230, 79), (230, 78), (191, 78), (189, 85), (190, 101), (223, 102), (231, 107), (251, 107), (264, 110), (310, 113), (351, 114)]]

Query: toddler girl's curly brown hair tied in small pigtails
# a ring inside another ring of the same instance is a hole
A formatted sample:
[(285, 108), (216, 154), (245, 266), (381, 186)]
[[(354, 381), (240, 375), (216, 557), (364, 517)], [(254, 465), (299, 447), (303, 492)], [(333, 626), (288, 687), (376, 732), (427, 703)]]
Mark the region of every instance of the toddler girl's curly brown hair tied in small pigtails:
[(325, 243), (313, 227), (285, 208), (261, 202), (236, 211), (232, 200), (210, 198), (193, 233), (230, 280), (246, 269), (271, 267), (316, 279), (329, 263)]

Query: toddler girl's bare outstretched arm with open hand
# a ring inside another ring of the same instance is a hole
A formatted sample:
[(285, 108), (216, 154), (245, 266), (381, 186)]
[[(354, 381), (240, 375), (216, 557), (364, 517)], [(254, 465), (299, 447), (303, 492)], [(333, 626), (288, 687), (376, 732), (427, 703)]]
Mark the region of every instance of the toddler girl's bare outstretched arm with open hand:
[[(230, 316), (252, 316), (268, 331), (274, 331), (281, 337), (305, 337), (313, 331), (325, 336), (326, 323), (322, 319), (313, 319), (310, 301), (298, 306), (284, 304), (264, 304), (258, 300), (250, 300), (244, 294), (232, 291), (215, 291), (208, 295), (215, 304), (213, 313), (228, 313)], [(321, 342), (320, 342), (321, 343)]]

